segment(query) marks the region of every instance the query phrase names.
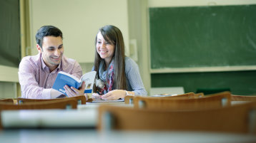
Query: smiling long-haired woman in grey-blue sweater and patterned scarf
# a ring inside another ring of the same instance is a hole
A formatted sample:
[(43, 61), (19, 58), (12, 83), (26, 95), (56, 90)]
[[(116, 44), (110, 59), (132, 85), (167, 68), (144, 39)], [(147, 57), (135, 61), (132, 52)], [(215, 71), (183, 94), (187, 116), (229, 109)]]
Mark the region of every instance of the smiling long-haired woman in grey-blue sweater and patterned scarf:
[(99, 29), (95, 40), (94, 67), (97, 92), (92, 98), (118, 100), (126, 95), (147, 95), (137, 63), (124, 55), (124, 39), (116, 26)]

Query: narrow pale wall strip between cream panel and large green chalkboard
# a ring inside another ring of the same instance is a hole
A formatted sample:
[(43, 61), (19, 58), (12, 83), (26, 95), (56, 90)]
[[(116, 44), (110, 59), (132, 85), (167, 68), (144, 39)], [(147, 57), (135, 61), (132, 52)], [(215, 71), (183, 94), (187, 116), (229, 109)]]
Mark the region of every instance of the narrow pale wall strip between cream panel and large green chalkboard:
[(144, 87), (148, 92), (151, 88), (149, 73), (149, 31), (148, 6), (145, 0), (129, 0), (129, 38), (137, 41), (138, 65)]

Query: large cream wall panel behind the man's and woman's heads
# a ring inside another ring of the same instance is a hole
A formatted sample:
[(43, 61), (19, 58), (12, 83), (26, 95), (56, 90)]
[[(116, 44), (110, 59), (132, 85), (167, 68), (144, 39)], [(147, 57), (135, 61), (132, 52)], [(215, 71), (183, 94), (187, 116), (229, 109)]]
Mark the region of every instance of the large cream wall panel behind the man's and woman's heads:
[(30, 0), (31, 49), (36, 55), (36, 31), (53, 25), (64, 34), (64, 55), (79, 63), (94, 61), (95, 36), (104, 25), (120, 28), (129, 55), (127, 0)]

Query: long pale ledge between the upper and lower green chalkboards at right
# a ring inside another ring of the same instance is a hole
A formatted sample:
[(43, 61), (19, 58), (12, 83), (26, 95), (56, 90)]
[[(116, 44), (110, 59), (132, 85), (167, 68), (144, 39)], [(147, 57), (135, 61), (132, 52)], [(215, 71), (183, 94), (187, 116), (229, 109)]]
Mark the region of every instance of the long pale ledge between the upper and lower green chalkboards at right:
[(196, 68), (157, 68), (150, 69), (150, 73), (196, 73), (196, 72), (225, 72), (256, 70), (256, 65), (196, 67)]

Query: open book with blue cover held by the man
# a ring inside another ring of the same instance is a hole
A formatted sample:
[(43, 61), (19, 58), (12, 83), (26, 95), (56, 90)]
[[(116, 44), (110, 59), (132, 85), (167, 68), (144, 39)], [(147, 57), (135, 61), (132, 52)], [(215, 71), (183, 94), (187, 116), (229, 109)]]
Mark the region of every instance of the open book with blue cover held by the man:
[(69, 73), (60, 71), (56, 77), (54, 86), (52, 88), (54, 90), (58, 90), (59, 92), (62, 92), (65, 95), (67, 95), (64, 89), (64, 85), (68, 85), (69, 87), (74, 87), (79, 89), (82, 86), (82, 83), (84, 81), (85, 82), (84, 93), (92, 93), (95, 75), (96, 75), (96, 71), (91, 71), (89, 73), (85, 73), (84, 75), (82, 75), (80, 79), (78, 79), (74, 75), (70, 75)]

